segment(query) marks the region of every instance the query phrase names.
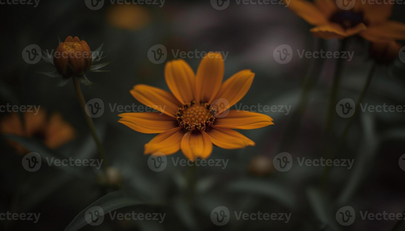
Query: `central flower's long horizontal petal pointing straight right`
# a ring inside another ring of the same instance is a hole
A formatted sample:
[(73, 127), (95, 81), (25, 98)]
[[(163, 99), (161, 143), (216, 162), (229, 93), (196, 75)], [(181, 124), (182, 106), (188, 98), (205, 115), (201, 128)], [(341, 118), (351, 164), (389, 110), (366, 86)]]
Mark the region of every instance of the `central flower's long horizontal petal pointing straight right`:
[(224, 118), (217, 118), (214, 122), (216, 127), (227, 127), (233, 129), (255, 129), (272, 125), (273, 119), (265, 114), (230, 110)]

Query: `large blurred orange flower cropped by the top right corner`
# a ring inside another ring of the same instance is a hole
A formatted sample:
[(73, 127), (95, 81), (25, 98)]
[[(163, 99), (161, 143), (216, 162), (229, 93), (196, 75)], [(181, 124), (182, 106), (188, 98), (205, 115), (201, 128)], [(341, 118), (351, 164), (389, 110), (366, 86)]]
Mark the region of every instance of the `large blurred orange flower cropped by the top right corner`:
[[(344, 6), (343, 1), (342, 6)], [(354, 0), (352, 0), (354, 1)], [(369, 4), (355, 1), (353, 7), (342, 10), (335, 0), (291, 0), (290, 8), (311, 25), (315, 37), (343, 39), (354, 35), (376, 41), (382, 39), (405, 39), (405, 24), (388, 20), (392, 4)], [(350, 3), (350, 2), (349, 2)]]

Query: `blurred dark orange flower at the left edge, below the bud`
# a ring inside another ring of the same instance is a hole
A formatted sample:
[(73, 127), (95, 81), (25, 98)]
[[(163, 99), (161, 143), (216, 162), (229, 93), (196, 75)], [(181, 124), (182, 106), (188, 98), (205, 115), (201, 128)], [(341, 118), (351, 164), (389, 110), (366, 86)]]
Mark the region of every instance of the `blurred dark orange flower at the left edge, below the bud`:
[[(12, 112), (4, 117), (0, 122), (1, 133), (40, 139), (48, 148), (52, 149), (62, 146), (75, 137), (75, 130), (62, 119), (59, 113), (51, 114), (47, 120), (45, 110), (40, 109), (38, 114), (23, 112), (23, 119), (24, 123), (22, 123), (17, 112)], [(9, 141), (9, 143), (15, 147), (19, 154), (28, 152), (26, 148), (14, 141)]]

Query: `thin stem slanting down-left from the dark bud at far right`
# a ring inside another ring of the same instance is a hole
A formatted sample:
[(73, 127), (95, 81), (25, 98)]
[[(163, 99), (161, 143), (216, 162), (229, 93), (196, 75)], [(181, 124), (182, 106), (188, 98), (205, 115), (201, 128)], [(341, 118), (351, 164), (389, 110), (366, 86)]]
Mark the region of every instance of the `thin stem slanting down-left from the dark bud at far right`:
[[(362, 91), (360, 93), (360, 96), (358, 97), (358, 100), (356, 102), (356, 109), (357, 110), (354, 111), (354, 114), (352, 115), (352, 117), (350, 117), (349, 121), (347, 121), (346, 126), (345, 126), (345, 128), (343, 130), (343, 133), (342, 133), (341, 137), (339, 138), (338, 146), (337, 146), (337, 148), (335, 149), (335, 151), (334, 151), (334, 153), (332, 155), (332, 158), (335, 157), (337, 155), (337, 153), (339, 153), (340, 148), (343, 146), (343, 142), (346, 140), (346, 136), (349, 133), (350, 127), (352, 126), (354, 116), (356, 115), (356, 111), (358, 111), (358, 108), (360, 107), (360, 104), (364, 99), (364, 95), (366, 95), (367, 89), (370, 86), (371, 79), (374, 76), (375, 66), (376, 66), (376, 64), (375, 64), (375, 62), (373, 62), (373, 64), (371, 65), (369, 74), (367, 76), (366, 82), (364, 83), (364, 87), (363, 87), (363, 89), (362, 89)], [(325, 183), (326, 183), (329, 171), (330, 171), (330, 167), (325, 166), (324, 172), (322, 174), (322, 181), (321, 181), (322, 186), (324, 186)]]

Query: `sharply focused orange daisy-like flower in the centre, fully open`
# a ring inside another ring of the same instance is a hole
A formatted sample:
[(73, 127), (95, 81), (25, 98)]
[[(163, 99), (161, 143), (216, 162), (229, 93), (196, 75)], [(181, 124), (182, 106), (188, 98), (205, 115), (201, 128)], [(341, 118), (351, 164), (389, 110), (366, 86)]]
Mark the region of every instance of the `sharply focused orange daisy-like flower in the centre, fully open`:
[[(119, 114), (122, 118), (118, 122), (135, 131), (160, 133), (145, 144), (144, 154), (170, 155), (181, 149), (188, 159), (205, 159), (212, 153), (212, 144), (225, 149), (255, 145), (232, 129), (273, 124), (273, 119), (264, 114), (227, 110), (247, 93), (254, 73), (242, 70), (222, 83), (224, 61), (220, 53), (208, 53), (196, 74), (184, 60), (170, 61), (164, 76), (172, 93), (143, 84), (130, 91), (136, 100), (160, 112)], [(228, 102), (219, 108), (213, 105), (216, 99)]]

